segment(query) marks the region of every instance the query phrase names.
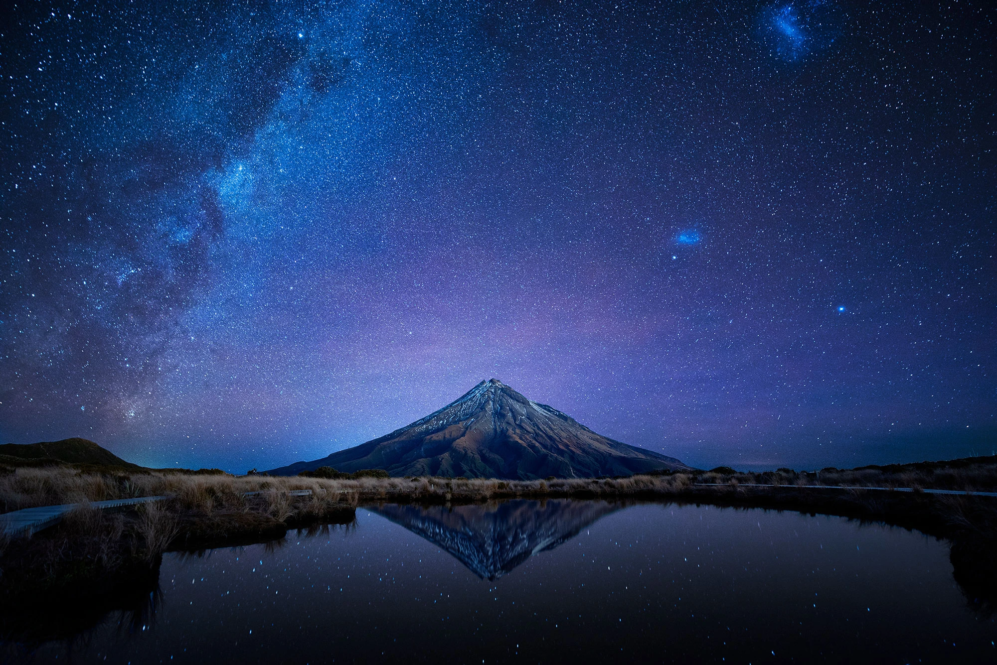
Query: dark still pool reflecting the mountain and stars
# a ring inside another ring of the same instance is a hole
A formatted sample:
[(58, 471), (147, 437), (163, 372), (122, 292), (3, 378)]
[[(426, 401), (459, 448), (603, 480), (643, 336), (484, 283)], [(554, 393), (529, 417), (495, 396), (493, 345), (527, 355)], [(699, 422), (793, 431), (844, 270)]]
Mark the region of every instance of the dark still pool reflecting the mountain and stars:
[(136, 625), (112, 615), (31, 659), (997, 662), (945, 543), (796, 513), (385, 505), (279, 546), (167, 554), (160, 584)]

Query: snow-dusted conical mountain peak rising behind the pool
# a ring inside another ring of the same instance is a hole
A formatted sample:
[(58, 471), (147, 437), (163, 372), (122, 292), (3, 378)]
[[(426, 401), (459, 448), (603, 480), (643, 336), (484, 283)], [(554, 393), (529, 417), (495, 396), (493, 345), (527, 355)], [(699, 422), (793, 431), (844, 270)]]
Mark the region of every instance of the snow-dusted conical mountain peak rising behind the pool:
[(323, 466), (345, 472), (384, 469), (392, 476), (519, 480), (629, 476), (691, 468), (674, 457), (596, 434), (495, 378), (391, 434), (267, 473), (293, 476)]

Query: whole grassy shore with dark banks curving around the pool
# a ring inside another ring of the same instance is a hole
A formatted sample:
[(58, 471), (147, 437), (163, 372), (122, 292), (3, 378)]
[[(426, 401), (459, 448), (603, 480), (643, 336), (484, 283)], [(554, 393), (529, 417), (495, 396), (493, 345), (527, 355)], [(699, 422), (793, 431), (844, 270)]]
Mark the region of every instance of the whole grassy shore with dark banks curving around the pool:
[[(124, 506), (114, 512), (81, 505), (70, 511), (62, 524), (30, 538), (0, 537), (0, 605), (19, 606), (26, 611), (35, 607), (43, 614), (46, 606), (60, 602), (60, 598), (80, 598), (86, 604), (87, 598), (101, 596), (104, 600), (95, 606), (115, 605), (118, 596), (134, 596), (122, 589), (136, 584), (145, 588), (150, 580), (158, 579), (160, 562), (167, 552), (197, 555), (217, 548), (280, 543), (294, 530), (315, 533), (349, 528), (356, 520), (358, 507), (488, 505), (522, 499), (793, 511), (916, 530), (949, 543), (954, 574), (967, 599), (990, 611), (997, 608), (997, 561), (991, 554), (997, 551), (997, 497), (949, 494), (991, 490), (980, 482), (993, 477), (991, 465), (984, 471), (976, 476), (943, 475), (942, 482), (934, 484), (936, 487), (923, 487), (927, 483), (911, 482), (923, 482), (923, 478), (903, 474), (883, 476), (876, 472), (879, 476), (873, 479), (868, 472), (839, 472), (837, 480), (841, 480), (840, 474), (851, 474), (844, 480), (854, 484), (829, 487), (824, 483), (833, 477), (830, 472), (823, 472), (820, 478), (795, 472), (714, 471), (501, 481), (425, 477), (330, 480), (20, 469), (0, 477), (2, 506), (38, 506), (53, 498), (63, 499), (59, 502), (62, 504), (85, 500), (126, 503), (135, 495), (168, 498)], [(763, 480), (777, 482), (758, 482)], [(881, 489), (868, 489), (874, 487), (868, 484), (874, 480), (881, 483)], [(18, 492), (19, 488), (34, 491), (26, 494)], [(122, 496), (126, 494), (132, 496)], [(71, 497), (78, 499), (65, 501)], [(0, 617), (0, 624), (9, 621)], [(2, 632), (9, 634), (7, 629)]]

